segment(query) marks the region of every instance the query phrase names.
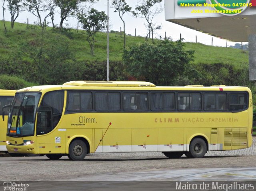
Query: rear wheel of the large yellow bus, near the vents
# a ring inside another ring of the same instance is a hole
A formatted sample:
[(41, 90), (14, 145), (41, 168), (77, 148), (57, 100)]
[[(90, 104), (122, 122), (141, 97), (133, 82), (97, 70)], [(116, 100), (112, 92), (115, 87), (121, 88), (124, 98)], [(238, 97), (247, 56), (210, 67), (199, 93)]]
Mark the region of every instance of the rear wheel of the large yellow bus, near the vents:
[(192, 140), (189, 146), (189, 152), (185, 155), (188, 158), (202, 158), (206, 154), (206, 143), (201, 138), (195, 138)]

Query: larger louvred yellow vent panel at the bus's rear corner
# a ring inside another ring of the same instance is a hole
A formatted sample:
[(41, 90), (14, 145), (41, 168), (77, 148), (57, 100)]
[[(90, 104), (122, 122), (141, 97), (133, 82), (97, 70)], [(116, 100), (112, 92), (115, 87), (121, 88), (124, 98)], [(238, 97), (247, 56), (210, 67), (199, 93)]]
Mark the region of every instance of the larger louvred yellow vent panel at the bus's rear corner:
[(225, 128), (224, 146), (244, 146), (247, 145), (247, 128)]

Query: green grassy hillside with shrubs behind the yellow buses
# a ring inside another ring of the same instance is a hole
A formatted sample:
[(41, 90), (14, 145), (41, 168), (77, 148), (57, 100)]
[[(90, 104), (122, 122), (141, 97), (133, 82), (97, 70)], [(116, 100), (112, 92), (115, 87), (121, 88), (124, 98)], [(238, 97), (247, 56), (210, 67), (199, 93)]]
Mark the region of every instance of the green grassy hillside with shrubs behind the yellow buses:
[[(6, 22), (6, 26), (5, 34), (3, 22), (0, 21), (0, 75), (14, 75), (36, 84), (106, 80), (106, 33), (96, 34), (95, 55), (92, 56), (86, 36), (81, 35), (81, 31), (66, 29), (59, 33), (58, 30), (47, 28), (42, 33), (34, 25), (15, 23), (14, 29), (10, 29), (10, 22)], [(127, 35), (126, 47), (143, 41), (144, 37)], [(122, 71), (123, 37), (119, 32), (110, 33), (109, 48), (110, 80), (126, 80)], [(248, 81), (247, 51), (201, 43), (185, 43), (185, 49), (195, 51), (192, 65), (201, 73), (201, 77), (175, 85), (254, 87)]]

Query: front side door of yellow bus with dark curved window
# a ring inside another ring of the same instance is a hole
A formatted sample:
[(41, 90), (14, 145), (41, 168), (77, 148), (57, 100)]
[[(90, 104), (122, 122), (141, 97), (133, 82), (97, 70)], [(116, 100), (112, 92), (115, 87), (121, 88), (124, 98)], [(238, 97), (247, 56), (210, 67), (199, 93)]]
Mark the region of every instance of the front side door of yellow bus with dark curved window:
[(66, 128), (58, 126), (62, 117), (63, 103), (63, 91), (52, 91), (44, 95), (38, 108), (36, 126), (39, 154), (66, 153)]

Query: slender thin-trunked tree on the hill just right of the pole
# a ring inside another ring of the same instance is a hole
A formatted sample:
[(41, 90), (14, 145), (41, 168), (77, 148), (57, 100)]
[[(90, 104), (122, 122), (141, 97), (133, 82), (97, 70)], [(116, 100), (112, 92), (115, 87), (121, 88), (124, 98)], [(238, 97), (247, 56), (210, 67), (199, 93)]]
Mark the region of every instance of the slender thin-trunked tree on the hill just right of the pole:
[(125, 49), (125, 22), (123, 16), (126, 12), (130, 12), (132, 7), (130, 7), (125, 0), (113, 0), (112, 6), (114, 6), (114, 12), (118, 12), (120, 19), (124, 23), (124, 49)]

